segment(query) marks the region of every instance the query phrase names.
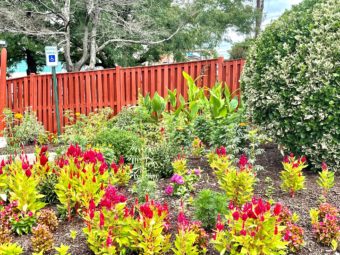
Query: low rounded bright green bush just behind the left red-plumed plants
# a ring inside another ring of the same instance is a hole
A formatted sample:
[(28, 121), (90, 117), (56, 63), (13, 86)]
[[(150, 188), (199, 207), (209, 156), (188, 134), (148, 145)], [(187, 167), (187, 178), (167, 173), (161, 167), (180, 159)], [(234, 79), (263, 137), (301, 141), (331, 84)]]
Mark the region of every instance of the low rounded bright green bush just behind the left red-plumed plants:
[(139, 161), (142, 140), (130, 131), (118, 128), (105, 129), (99, 132), (94, 140), (97, 146), (111, 149), (114, 154), (114, 161), (119, 160), (120, 156), (124, 156), (127, 162), (136, 163)]

